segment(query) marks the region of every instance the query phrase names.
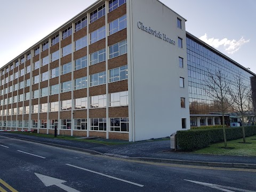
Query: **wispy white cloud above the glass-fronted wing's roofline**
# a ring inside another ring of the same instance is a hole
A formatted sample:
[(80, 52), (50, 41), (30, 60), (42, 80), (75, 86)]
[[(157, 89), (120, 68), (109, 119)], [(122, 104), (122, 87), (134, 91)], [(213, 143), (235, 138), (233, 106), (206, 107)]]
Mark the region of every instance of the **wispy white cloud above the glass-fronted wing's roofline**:
[(235, 39), (229, 40), (227, 38), (223, 38), (220, 40), (220, 39), (214, 38), (214, 37), (208, 38), (207, 34), (204, 34), (202, 37), (199, 37), (199, 39), (201, 39), (205, 43), (213, 46), (214, 48), (224, 46), (226, 48), (225, 51), (227, 51), (229, 54), (235, 53), (236, 51), (238, 51), (240, 49), (240, 47), (243, 44), (250, 42), (250, 39), (245, 40), (244, 37), (241, 37), (241, 39), (239, 39), (238, 41)]

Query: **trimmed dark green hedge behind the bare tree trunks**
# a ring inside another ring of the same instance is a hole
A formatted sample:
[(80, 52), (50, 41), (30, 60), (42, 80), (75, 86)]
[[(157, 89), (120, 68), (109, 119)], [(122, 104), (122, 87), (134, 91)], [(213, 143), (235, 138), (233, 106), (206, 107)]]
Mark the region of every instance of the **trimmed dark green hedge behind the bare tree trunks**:
[[(245, 127), (245, 137), (256, 134), (256, 126)], [(223, 141), (222, 129), (196, 129), (177, 131), (177, 144), (183, 150), (201, 149), (210, 143)], [(227, 140), (243, 138), (242, 127), (226, 128)]]

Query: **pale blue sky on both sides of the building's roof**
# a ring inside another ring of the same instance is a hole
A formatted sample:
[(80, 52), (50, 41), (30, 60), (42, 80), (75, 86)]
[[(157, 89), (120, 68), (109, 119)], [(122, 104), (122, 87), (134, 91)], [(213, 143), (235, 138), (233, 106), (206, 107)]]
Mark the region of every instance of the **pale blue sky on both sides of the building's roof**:
[[(186, 30), (189, 33), (256, 73), (255, 0), (160, 1), (187, 19)], [(0, 67), (94, 2), (96, 1), (2, 1)]]

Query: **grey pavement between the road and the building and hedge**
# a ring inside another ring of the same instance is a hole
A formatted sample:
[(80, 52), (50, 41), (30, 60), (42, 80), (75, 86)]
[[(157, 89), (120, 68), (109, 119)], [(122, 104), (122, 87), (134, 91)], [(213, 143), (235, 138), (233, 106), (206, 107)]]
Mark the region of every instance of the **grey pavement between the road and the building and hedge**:
[(107, 155), (137, 161), (256, 169), (256, 157), (171, 152), (170, 140), (127, 142), (125, 145), (108, 146), (100, 143), (81, 142), (79, 140), (36, 137), (33, 136), (33, 133), (31, 135), (23, 135), (1, 132), (0, 135), (49, 146), (84, 151), (93, 155)]

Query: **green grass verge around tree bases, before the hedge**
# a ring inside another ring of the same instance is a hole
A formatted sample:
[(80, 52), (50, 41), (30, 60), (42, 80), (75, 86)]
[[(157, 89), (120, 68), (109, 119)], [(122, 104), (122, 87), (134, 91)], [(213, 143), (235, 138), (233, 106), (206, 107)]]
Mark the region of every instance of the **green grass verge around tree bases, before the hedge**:
[[(223, 149), (224, 142), (214, 143), (209, 147), (194, 151), (196, 154), (214, 154), (214, 155), (236, 155), (236, 156), (256, 156), (256, 135), (246, 137), (246, 142), (241, 143), (243, 139), (237, 139), (227, 142), (227, 147), (234, 149)], [(250, 142), (250, 143), (249, 143)]]

